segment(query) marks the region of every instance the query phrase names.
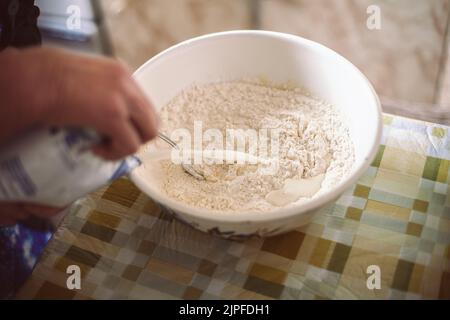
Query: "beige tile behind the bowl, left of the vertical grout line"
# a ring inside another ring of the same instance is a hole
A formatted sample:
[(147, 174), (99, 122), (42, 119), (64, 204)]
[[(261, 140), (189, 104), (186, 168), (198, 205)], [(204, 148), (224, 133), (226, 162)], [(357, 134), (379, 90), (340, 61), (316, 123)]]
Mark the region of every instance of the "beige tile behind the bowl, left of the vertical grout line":
[(182, 40), (248, 29), (246, 0), (102, 0), (115, 55), (132, 69)]

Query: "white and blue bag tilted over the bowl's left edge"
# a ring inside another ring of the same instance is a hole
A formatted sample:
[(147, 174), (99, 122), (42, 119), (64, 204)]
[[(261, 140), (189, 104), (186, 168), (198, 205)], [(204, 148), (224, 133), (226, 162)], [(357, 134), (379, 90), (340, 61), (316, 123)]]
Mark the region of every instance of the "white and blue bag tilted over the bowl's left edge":
[(45, 129), (0, 147), (0, 201), (66, 206), (140, 165), (101, 159), (90, 150), (98, 142), (90, 130)]

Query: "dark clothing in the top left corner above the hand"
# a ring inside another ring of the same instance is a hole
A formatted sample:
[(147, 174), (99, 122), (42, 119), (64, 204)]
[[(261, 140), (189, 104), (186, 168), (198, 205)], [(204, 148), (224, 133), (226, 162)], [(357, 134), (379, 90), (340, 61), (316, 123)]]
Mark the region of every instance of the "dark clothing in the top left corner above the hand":
[(0, 0), (0, 50), (41, 43), (34, 0)]

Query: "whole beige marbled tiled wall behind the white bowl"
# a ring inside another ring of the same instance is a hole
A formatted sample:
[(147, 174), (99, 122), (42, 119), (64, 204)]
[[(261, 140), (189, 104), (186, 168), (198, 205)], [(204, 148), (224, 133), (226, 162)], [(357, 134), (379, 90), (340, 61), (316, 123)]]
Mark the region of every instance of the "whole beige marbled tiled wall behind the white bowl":
[[(450, 105), (450, 76), (441, 72), (446, 69), (450, 0), (102, 0), (102, 4), (116, 55), (132, 68), (196, 35), (260, 28), (297, 34), (338, 51), (367, 75), (383, 99), (417, 103), (427, 112), (436, 109), (436, 103)], [(380, 30), (366, 26), (369, 5), (381, 10)]]

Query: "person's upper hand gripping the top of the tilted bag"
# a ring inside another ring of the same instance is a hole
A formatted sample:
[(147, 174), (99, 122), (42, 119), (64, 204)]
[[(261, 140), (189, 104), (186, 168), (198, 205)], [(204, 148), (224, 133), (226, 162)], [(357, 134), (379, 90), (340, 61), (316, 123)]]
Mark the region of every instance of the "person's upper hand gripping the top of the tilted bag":
[(0, 55), (0, 142), (31, 125), (87, 127), (105, 137), (94, 152), (115, 160), (157, 135), (152, 104), (119, 62), (50, 48)]

